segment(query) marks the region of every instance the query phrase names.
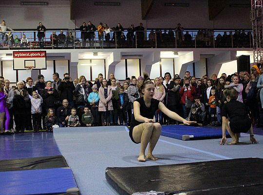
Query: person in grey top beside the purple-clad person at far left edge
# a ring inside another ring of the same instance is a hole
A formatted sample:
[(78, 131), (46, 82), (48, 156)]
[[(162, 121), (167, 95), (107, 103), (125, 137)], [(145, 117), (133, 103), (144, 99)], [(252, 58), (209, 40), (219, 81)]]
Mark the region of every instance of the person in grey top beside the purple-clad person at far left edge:
[(13, 112), (13, 101), (14, 101), (14, 90), (9, 87), (10, 81), (5, 79), (4, 80), (4, 94), (6, 95), (5, 104), (6, 108), (8, 109), (9, 115), (10, 115), (10, 121), (8, 126), (8, 131), (11, 133), (14, 133), (14, 112)]

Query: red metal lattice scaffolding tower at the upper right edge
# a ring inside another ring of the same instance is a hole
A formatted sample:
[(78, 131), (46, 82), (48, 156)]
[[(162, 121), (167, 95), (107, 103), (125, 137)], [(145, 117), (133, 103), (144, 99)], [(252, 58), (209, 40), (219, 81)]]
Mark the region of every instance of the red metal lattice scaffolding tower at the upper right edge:
[(253, 30), (253, 54), (254, 62), (263, 63), (263, 2), (251, 0), (250, 20)]

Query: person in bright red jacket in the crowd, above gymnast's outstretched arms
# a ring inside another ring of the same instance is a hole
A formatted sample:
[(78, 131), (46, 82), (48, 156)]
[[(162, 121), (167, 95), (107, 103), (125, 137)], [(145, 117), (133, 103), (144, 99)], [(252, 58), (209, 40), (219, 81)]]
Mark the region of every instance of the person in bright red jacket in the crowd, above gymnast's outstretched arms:
[(195, 87), (191, 85), (189, 79), (186, 78), (184, 80), (184, 85), (180, 89), (179, 94), (181, 96), (180, 103), (182, 104), (183, 117), (187, 118), (190, 112), (191, 104), (193, 103), (195, 96)]

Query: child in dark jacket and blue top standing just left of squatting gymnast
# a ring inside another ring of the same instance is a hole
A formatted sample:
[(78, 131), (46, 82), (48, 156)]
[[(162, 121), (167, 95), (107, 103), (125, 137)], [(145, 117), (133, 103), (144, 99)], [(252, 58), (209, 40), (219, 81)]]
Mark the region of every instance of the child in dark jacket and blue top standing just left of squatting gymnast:
[(127, 106), (129, 104), (129, 98), (126, 93), (124, 93), (124, 87), (120, 87), (120, 93), (119, 93), (119, 101), (118, 101), (118, 109), (119, 109), (119, 121), (120, 125), (123, 125), (123, 122), (125, 123), (125, 126), (127, 126)]

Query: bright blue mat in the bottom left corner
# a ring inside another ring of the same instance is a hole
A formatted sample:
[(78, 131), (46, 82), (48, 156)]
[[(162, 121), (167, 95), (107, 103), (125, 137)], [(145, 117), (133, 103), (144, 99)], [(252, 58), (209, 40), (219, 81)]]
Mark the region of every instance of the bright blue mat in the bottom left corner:
[(70, 168), (0, 172), (0, 195), (58, 195), (77, 188)]

